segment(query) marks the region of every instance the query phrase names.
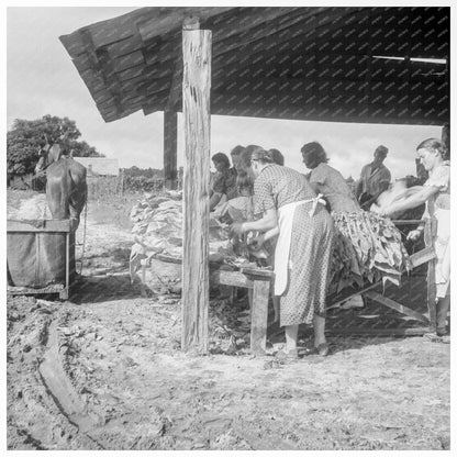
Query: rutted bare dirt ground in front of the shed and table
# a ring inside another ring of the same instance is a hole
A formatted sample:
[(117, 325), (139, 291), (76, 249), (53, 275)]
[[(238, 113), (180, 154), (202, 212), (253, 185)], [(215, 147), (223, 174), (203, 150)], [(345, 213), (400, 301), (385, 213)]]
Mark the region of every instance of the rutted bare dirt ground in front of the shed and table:
[[(83, 221), (77, 257), (82, 237)], [(89, 205), (70, 300), (8, 297), (9, 449), (449, 449), (450, 345), (331, 337), (328, 357), (282, 364), (278, 328), (250, 355), (247, 300), (219, 296), (210, 355), (188, 355), (179, 294), (142, 297), (131, 245)]]

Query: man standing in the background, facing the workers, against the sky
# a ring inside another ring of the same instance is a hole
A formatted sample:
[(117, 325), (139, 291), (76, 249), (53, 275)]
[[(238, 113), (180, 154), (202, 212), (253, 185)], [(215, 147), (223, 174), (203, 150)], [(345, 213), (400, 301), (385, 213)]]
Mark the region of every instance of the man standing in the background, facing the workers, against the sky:
[(375, 159), (364, 166), (356, 188), (356, 197), (363, 210), (369, 210), (377, 198), (389, 188), (390, 171), (382, 164), (389, 149), (380, 145), (376, 148)]

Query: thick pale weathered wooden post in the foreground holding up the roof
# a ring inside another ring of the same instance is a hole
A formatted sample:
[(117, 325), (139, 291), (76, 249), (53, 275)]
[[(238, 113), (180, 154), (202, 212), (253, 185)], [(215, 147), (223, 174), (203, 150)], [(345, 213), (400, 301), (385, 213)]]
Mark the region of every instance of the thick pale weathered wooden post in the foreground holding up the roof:
[[(194, 27), (196, 29), (196, 27)], [(183, 179), (182, 338), (183, 350), (208, 353), (211, 31), (182, 31)]]

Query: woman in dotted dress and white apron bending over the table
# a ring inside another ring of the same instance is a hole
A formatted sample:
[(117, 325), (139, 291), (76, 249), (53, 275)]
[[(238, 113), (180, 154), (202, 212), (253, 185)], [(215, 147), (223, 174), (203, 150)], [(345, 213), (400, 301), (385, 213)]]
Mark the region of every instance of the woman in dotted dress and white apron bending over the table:
[(257, 247), (278, 236), (275, 253), (275, 294), (280, 296), (280, 325), (285, 326), (283, 357), (298, 357), (299, 324), (313, 324), (314, 346), (327, 355), (325, 299), (332, 253), (333, 223), (304, 175), (274, 164), (272, 155), (254, 148), (248, 172), (253, 175), (257, 221), (235, 223), (237, 234), (260, 231)]

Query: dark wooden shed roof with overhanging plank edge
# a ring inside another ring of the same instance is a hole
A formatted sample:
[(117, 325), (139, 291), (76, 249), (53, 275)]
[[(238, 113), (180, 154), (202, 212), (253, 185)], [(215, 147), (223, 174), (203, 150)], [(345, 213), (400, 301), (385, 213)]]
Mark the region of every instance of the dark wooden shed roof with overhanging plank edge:
[[(449, 8), (142, 8), (60, 41), (107, 122), (181, 111), (181, 30), (212, 30), (213, 114), (443, 124)], [(401, 59), (377, 56), (401, 57)]]

